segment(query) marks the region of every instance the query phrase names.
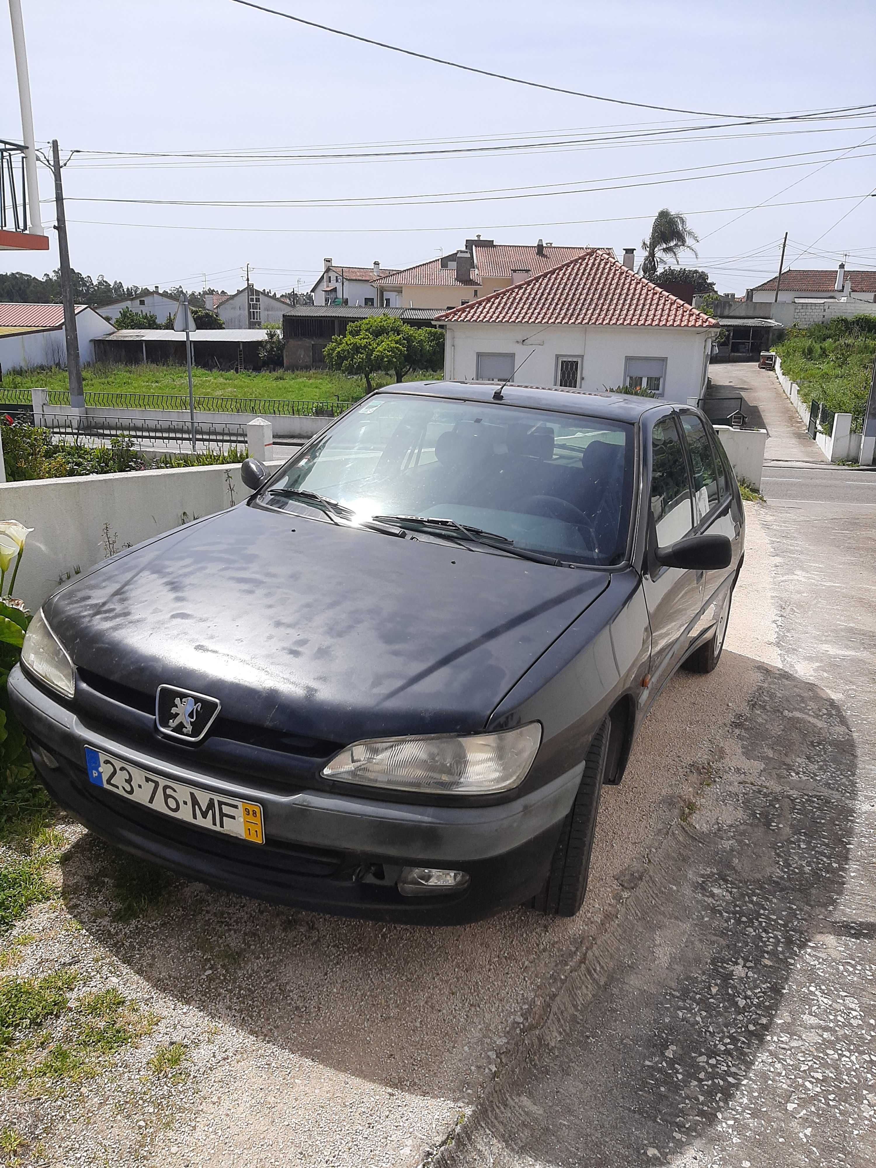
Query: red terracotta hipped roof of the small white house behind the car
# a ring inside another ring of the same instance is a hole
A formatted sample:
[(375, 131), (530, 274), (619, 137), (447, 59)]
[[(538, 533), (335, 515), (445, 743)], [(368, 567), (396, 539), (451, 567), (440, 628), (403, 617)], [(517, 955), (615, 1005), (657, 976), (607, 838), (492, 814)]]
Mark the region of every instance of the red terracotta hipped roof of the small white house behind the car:
[(620, 325), (717, 328), (697, 308), (591, 248), (541, 276), (493, 292), (436, 320), (495, 325)]

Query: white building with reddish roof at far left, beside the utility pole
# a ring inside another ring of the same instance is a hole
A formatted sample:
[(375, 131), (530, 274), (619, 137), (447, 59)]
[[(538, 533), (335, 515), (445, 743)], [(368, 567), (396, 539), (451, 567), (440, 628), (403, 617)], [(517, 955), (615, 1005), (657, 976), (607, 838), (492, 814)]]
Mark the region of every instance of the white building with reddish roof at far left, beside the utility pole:
[[(116, 332), (86, 305), (76, 306), (79, 360), (95, 360), (93, 341)], [(64, 307), (60, 304), (0, 304), (0, 376), (11, 369), (65, 366)]]

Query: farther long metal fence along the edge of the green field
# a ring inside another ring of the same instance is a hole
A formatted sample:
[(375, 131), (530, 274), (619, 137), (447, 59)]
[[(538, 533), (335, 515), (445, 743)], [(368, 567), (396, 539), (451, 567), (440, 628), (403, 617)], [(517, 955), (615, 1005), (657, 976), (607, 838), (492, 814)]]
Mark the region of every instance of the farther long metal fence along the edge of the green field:
[[(8, 405), (30, 405), (29, 389), (0, 389), (0, 397)], [(47, 392), (49, 405), (69, 405), (70, 395), (65, 389)], [(348, 410), (353, 402), (333, 401), (299, 402), (283, 397), (213, 397), (195, 396), (195, 410), (201, 413), (249, 413), (250, 417), (336, 418)], [(88, 390), (85, 405), (100, 410), (185, 410), (188, 412), (188, 394), (116, 394), (104, 390)]]

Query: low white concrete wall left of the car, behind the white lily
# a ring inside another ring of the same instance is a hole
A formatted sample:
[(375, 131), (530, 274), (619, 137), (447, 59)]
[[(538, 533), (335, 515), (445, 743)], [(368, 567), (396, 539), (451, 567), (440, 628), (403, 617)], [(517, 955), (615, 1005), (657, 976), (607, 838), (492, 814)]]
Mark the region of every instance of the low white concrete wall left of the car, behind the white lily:
[[(269, 464), (279, 466), (279, 463)], [(249, 492), (239, 465), (89, 474), (0, 485), (0, 513), (34, 530), (15, 595), (33, 611), (111, 551), (239, 503)]]

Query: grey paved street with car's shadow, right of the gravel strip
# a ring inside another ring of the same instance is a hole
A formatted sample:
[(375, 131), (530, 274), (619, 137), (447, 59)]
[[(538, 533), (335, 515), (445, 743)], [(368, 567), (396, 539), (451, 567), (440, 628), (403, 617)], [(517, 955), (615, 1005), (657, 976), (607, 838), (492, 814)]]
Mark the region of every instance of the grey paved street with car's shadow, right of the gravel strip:
[(876, 1162), (876, 478), (764, 491), (714, 675), (745, 709), (442, 1166)]

